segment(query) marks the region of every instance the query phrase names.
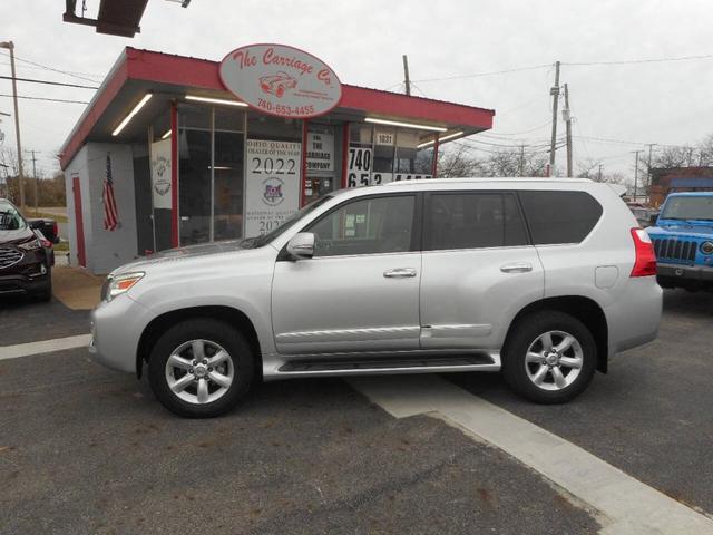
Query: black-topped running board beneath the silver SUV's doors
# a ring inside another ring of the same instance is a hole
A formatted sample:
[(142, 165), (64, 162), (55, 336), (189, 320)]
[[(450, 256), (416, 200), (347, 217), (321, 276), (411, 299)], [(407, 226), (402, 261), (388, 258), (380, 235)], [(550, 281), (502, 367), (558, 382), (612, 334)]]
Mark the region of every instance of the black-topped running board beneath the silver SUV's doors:
[(447, 371), (498, 371), (500, 363), (488, 354), (459, 357), (309, 359), (287, 362), (281, 376), (356, 376), (372, 373), (433, 373)]

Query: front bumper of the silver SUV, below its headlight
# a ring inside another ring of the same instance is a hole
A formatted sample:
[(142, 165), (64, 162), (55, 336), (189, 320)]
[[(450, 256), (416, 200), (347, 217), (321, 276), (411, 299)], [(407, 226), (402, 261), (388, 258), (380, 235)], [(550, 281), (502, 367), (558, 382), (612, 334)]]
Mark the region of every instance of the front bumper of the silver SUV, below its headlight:
[(150, 312), (128, 294), (101, 301), (91, 312), (89, 358), (107, 368), (136, 373), (136, 352)]

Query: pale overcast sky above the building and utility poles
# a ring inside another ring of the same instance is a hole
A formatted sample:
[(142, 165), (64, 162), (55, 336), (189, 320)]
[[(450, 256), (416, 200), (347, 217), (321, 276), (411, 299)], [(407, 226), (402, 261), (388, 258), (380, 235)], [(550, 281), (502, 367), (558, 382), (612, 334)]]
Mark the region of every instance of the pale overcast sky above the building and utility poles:
[[(90, 14), (98, 4), (99, 0), (87, 0)], [(141, 32), (134, 39), (65, 23), (64, 8), (61, 0), (2, 0), (0, 40), (14, 41), (17, 58), (70, 71), (97, 85), (126, 46), (219, 60), (243, 45), (280, 42), (320, 57), (344, 82), (401, 90), (401, 55), (408, 54), (414, 94), (492, 108), (497, 115), (491, 135), (500, 137), (475, 138), (533, 147), (549, 138), (549, 88), (556, 60), (713, 55), (710, 0), (193, 0), (187, 9), (150, 0)], [(18, 77), (95, 85), (20, 60), (17, 67)], [(0, 49), (0, 76), (9, 74), (7, 50)], [(453, 76), (463, 77), (428, 81)], [(575, 163), (597, 159), (605, 172), (633, 174), (631, 152), (644, 148), (643, 144), (685, 145), (713, 133), (713, 57), (563, 65), (560, 82), (569, 85), (576, 136), (642, 144), (576, 137)], [(85, 101), (94, 94), (27, 82), (19, 82), (18, 90), (25, 96)], [(10, 81), (0, 79), (0, 95), (9, 94)], [(38, 167), (43, 172), (58, 168), (53, 154), (84, 108), (20, 100), (22, 145), (39, 152)], [(11, 98), (0, 97), (0, 111), (12, 111)], [(4, 146), (14, 148), (12, 119), (0, 118)], [(564, 124), (559, 129), (564, 135)], [(564, 166), (564, 149), (557, 159)]]

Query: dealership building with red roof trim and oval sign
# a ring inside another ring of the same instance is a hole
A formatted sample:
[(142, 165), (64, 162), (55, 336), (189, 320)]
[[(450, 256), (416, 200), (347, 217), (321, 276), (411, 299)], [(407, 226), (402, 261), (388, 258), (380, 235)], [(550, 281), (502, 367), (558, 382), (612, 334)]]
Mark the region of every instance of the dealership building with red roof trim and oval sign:
[(70, 263), (107, 273), (263, 234), (342, 187), (431, 178), (439, 149), (494, 115), (342, 84), (280, 45), (222, 61), (126, 48), (61, 149)]

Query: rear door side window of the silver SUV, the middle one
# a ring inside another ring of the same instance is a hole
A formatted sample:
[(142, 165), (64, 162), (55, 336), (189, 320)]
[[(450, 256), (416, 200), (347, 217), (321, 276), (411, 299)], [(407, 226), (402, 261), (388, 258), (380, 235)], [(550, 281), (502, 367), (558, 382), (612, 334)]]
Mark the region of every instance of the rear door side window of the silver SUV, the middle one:
[(427, 212), (426, 250), (527, 245), (515, 196), (509, 193), (436, 193)]

